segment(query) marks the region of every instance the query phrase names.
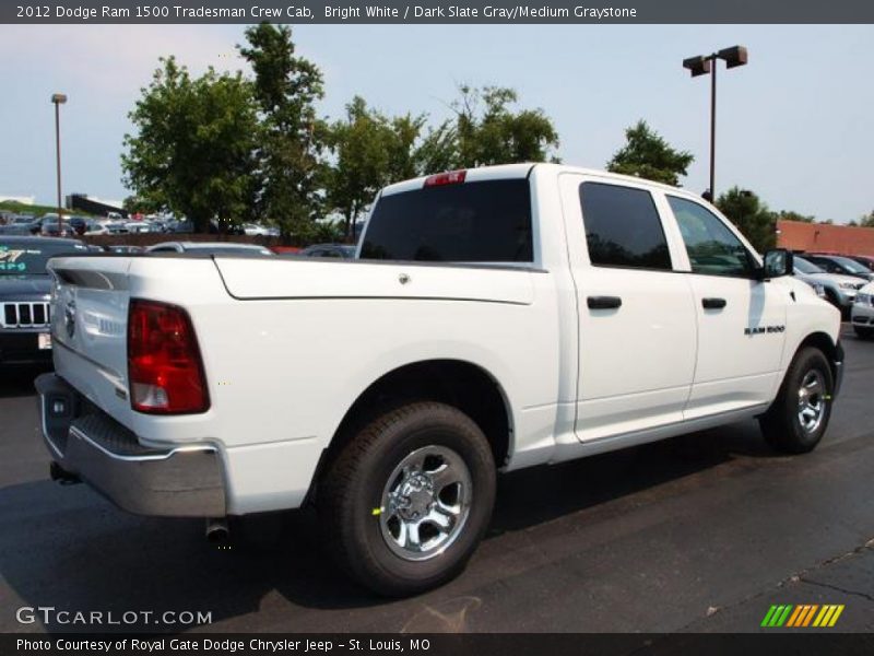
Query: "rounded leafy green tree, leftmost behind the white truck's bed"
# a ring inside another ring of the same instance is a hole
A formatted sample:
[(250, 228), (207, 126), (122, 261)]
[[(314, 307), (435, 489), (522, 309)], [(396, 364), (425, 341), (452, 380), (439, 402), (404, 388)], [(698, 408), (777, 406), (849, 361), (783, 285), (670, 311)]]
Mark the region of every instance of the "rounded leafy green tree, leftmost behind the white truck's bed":
[(161, 59), (129, 114), (123, 184), (143, 207), (185, 214), (198, 232), (212, 219), (240, 221), (252, 204), (258, 121), (240, 73), (210, 68), (192, 79), (173, 57)]

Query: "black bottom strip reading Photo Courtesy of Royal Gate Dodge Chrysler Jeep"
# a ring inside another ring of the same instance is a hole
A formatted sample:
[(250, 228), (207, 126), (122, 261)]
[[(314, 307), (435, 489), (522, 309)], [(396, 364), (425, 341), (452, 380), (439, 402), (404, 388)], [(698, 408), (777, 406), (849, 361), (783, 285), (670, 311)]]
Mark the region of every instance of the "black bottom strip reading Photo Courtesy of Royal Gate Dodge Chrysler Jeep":
[[(581, 612), (583, 610), (581, 609)], [(786, 631), (786, 630), (781, 630)], [(129, 654), (166, 656), (619, 656), (736, 655), (842, 656), (874, 653), (871, 634), (781, 632), (769, 635), (741, 634), (204, 634), (126, 635), (49, 634), (0, 635), (3, 656), (40, 654), (82, 656)]]

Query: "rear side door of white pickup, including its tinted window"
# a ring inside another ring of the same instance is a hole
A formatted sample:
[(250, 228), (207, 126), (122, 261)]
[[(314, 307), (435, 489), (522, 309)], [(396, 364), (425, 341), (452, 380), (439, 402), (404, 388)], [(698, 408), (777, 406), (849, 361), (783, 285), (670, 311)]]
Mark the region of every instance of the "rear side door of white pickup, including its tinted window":
[(696, 359), (696, 312), (682, 254), (643, 184), (559, 178), (579, 321), (577, 436), (682, 421)]

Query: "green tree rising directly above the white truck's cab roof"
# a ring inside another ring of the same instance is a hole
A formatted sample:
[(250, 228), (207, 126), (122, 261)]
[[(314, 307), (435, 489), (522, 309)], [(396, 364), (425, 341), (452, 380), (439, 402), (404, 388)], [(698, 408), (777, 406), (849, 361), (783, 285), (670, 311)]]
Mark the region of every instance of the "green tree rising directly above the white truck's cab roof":
[(422, 161), (448, 164), (429, 171), (515, 162), (557, 162), (558, 132), (543, 109), (513, 112), (512, 89), (461, 85), (450, 107), (454, 120), (433, 130), (423, 143)]

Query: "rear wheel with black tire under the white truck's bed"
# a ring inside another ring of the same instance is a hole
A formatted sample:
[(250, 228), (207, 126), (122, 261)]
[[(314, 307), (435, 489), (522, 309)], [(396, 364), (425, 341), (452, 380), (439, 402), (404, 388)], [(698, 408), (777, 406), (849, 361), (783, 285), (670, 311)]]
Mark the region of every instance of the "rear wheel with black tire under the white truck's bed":
[[(413, 466), (399, 471), (403, 462)], [(416, 471), (425, 478), (416, 478)], [(444, 480), (458, 473), (460, 482), (441, 483), (439, 471), (447, 473)], [(427, 590), (457, 576), (482, 540), (495, 501), (495, 473), (488, 441), (458, 409), (415, 402), (388, 411), (345, 444), (327, 468), (317, 501), (323, 537), (338, 563), (363, 586), (392, 597)], [(425, 492), (416, 491), (425, 479)], [(399, 508), (398, 502), (406, 505)], [(449, 505), (459, 508), (450, 528), (427, 523), (425, 511), (430, 516)], [(412, 514), (424, 517), (415, 528), (422, 547), (417, 553), (400, 543), (413, 535), (411, 528), (400, 537), (401, 524), (416, 523)]]

